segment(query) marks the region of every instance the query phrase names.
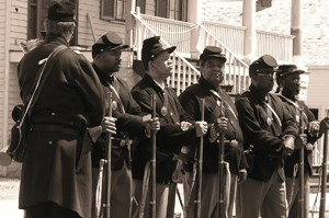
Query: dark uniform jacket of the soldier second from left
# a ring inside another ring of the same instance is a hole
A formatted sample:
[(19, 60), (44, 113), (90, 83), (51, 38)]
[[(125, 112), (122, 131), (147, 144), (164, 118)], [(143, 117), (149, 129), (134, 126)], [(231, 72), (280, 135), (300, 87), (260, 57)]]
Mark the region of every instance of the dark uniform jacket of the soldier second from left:
[[(95, 65), (93, 65), (93, 68), (101, 80), (105, 95), (106, 93), (112, 92), (112, 116), (117, 118), (115, 122), (117, 134), (113, 136), (114, 139), (112, 140), (111, 168), (112, 170), (120, 170), (122, 169), (124, 161), (126, 161), (129, 168), (132, 156), (131, 148), (134, 149), (135, 142), (140, 140), (139, 138), (145, 138), (145, 125), (141, 117), (145, 113), (140, 111), (139, 105), (133, 99), (126, 82), (115, 76), (102, 72)], [(107, 108), (107, 95), (106, 102)], [(109, 112), (109, 110), (106, 111)], [(127, 139), (134, 139), (133, 145), (124, 144), (124, 140)], [(99, 167), (100, 159), (105, 158), (106, 144), (106, 133), (103, 133), (93, 147), (93, 167)]]

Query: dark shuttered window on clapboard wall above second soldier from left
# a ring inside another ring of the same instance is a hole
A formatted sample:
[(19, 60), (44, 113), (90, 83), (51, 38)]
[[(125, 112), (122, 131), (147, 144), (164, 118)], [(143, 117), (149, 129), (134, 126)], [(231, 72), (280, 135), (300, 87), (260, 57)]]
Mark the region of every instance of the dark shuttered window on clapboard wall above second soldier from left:
[(125, 21), (126, 0), (102, 0), (101, 19)]

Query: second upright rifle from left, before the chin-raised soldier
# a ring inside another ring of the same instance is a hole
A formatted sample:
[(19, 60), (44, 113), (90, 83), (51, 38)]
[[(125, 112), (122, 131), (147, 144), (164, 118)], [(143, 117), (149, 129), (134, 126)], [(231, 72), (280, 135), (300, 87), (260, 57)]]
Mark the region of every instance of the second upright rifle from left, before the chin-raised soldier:
[[(151, 96), (152, 118), (156, 118), (156, 95)], [(156, 218), (156, 170), (157, 170), (157, 133), (151, 133), (151, 160), (150, 160), (150, 197), (149, 208), (150, 218)]]

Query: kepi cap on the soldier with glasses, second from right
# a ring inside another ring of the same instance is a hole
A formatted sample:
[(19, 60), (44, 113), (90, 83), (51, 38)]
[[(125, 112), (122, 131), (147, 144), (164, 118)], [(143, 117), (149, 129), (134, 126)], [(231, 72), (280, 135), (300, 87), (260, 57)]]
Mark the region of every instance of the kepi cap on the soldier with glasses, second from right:
[(249, 66), (249, 76), (262, 73), (272, 73), (275, 71), (277, 62), (271, 55), (263, 55), (259, 59), (254, 60)]

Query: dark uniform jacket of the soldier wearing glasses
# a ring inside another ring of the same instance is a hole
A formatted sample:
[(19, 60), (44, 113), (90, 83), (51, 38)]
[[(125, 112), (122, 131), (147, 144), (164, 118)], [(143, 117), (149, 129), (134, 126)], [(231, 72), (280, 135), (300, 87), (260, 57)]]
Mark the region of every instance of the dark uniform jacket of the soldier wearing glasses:
[[(266, 103), (275, 111), (277, 117), (269, 110)], [(247, 154), (248, 176), (266, 182), (273, 172), (277, 171), (281, 179), (285, 180), (284, 159), (281, 154), (282, 136), (298, 135), (298, 126), (294, 117), (287, 113), (279, 96), (271, 93), (261, 95), (252, 84), (249, 91), (237, 99), (236, 107), (243, 133), (245, 150), (252, 146), (252, 151)]]

